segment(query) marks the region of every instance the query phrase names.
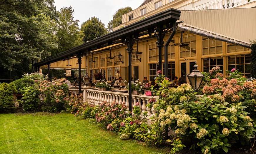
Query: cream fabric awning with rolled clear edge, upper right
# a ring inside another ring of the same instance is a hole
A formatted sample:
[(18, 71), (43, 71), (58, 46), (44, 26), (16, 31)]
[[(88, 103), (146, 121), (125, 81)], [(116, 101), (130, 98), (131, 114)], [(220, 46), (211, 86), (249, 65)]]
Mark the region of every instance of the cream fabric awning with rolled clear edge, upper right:
[(186, 10), (178, 30), (250, 48), (256, 39), (256, 8)]

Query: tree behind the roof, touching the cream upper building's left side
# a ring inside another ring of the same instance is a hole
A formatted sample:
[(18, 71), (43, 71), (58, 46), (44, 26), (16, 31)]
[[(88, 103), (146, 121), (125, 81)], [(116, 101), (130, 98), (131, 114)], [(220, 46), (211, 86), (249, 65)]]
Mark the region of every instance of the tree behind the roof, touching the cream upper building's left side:
[(113, 20), (109, 21), (107, 30), (113, 31), (114, 27), (117, 27), (120, 24), (122, 24), (122, 15), (127, 14), (130, 11), (132, 11), (131, 7), (118, 9), (117, 12), (113, 15)]

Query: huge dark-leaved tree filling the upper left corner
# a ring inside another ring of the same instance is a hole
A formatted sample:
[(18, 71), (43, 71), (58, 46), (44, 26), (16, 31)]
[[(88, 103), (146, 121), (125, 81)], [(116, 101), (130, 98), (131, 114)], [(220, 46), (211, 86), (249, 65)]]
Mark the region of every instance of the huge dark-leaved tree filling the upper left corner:
[[(0, 0), (1, 70), (17, 71), (12, 74), (21, 77), (31, 71), (32, 59), (46, 58), (56, 50), (53, 2)], [(21, 66), (27, 66), (22, 73)]]

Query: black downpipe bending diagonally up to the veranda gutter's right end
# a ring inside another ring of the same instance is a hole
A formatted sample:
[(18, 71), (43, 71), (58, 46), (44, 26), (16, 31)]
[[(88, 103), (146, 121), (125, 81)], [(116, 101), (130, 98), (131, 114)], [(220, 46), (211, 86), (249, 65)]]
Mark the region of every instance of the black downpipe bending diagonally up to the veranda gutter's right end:
[(174, 34), (176, 33), (176, 21), (172, 22), (172, 33), (168, 40), (164, 44), (164, 76), (168, 77), (168, 45), (172, 41)]

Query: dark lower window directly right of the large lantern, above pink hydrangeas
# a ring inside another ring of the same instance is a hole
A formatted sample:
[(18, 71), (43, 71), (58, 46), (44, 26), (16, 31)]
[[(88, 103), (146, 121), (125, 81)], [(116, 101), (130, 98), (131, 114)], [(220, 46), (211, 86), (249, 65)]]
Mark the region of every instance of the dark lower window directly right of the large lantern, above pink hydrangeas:
[(214, 58), (205, 58), (203, 59), (204, 63), (204, 72), (209, 72), (212, 68), (220, 66), (220, 69), (223, 71), (223, 58), (214, 57)]

